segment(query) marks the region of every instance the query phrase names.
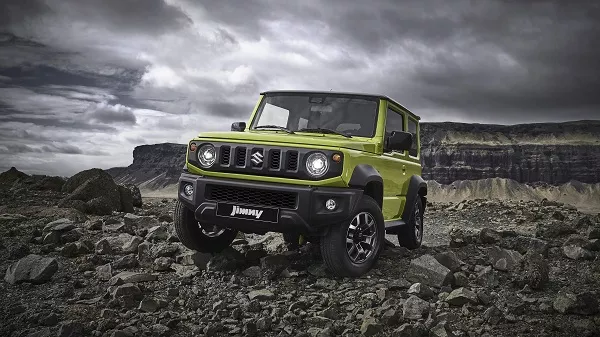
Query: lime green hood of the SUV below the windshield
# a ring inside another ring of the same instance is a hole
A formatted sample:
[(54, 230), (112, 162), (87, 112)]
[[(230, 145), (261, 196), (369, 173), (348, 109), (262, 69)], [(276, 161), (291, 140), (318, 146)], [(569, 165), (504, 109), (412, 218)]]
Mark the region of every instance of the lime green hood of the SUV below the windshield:
[(234, 143), (254, 143), (254, 144), (285, 144), (287, 146), (323, 146), (353, 149), (358, 151), (375, 152), (375, 142), (364, 137), (346, 138), (339, 135), (320, 134), (320, 133), (294, 133), (278, 131), (228, 131), (228, 132), (202, 132), (196, 140), (212, 140)]

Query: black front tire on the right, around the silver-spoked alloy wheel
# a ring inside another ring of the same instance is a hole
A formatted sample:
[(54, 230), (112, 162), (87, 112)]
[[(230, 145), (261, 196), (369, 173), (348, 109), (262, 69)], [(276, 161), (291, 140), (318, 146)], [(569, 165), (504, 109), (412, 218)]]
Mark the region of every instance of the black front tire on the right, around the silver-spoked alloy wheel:
[[(372, 226), (367, 227), (366, 222), (370, 223), (371, 220)], [(356, 229), (352, 229), (350, 225), (357, 225)], [(365, 229), (364, 233), (367, 235), (372, 235), (372, 244), (369, 245), (364, 241), (368, 240), (365, 237), (361, 240), (360, 234), (355, 237), (357, 241), (347, 243), (347, 236), (360, 233), (361, 228)], [(325, 265), (333, 274), (341, 277), (358, 277), (373, 268), (381, 254), (384, 240), (385, 224), (381, 208), (373, 198), (363, 196), (350, 219), (332, 226), (321, 238), (321, 255)], [(370, 247), (370, 252), (365, 257), (365, 254), (358, 254), (357, 247), (363, 250), (368, 250)]]

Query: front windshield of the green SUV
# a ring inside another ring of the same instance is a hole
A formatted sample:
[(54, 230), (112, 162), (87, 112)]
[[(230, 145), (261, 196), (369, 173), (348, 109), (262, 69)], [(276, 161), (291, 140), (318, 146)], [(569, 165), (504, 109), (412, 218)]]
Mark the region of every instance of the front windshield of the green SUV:
[(376, 97), (341, 94), (267, 94), (256, 112), (251, 129), (285, 128), (373, 137), (377, 124)]

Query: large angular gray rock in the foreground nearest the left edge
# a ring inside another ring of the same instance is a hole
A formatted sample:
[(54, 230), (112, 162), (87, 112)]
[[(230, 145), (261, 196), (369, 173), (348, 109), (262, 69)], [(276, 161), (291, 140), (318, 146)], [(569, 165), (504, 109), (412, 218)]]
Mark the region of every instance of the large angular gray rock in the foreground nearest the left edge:
[(57, 271), (56, 259), (30, 254), (8, 267), (4, 281), (10, 284), (40, 284), (48, 282)]

